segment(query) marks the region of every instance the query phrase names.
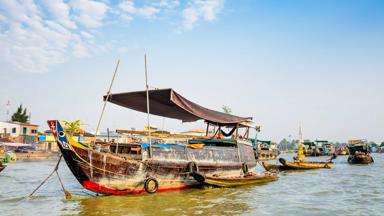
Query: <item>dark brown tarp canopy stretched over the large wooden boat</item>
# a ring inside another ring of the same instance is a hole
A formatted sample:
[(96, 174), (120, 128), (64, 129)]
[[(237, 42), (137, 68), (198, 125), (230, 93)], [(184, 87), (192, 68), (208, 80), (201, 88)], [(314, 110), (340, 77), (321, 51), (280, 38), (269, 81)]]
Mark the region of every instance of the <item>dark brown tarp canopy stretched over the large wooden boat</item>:
[[(104, 100), (106, 99), (104, 96)], [(147, 112), (146, 91), (111, 94), (108, 101), (139, 112)], [(252, 118), (234, 116), (202, 107), (173, 89), (149, 90), (149, 111), (153, 115), (180, 119), (183, 122), (192, 122), (204, 119), (206, 122), (217, 125), (236, 125), (250, 121)]]

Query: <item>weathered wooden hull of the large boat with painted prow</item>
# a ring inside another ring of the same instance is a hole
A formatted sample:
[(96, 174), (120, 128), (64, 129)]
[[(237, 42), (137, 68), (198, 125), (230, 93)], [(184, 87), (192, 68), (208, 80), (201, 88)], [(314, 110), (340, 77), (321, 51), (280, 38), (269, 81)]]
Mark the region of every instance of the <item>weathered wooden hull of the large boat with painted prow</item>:
[[(83, 187), (100, 194), (150, 193), (149, 181), (156, 185), (153, 192), (186, 189), (201, 185), (192, 177), (194, 172), (225, 177), (238, 175), (245, 164), (247, 170), (256, 166), (252, 146), (239, 151), (234, 147), (152, 147), (152, 158), (144, 158), (148, 153), (145, 151), (141, 159), (132, 159), (126, 154), (95, 151), (66, 136), (58, 121), (48, 121), (48, 124), (73, 175)], [(239, 161), (239, 152), (240, 158), (248, 158), (247, 163)]]

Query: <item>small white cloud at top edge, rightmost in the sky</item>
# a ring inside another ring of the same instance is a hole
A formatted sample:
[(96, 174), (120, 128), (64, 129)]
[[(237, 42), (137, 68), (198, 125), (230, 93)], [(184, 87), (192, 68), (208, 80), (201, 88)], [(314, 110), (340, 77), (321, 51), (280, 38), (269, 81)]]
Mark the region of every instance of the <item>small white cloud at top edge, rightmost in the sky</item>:
[(182, 27), (190, 30), (197, 25), (200, 19), (208, 22), (216, 20), (217, 14), (220, 13), (223, 6), (224, 0), (192, 0), (182, 12)]

